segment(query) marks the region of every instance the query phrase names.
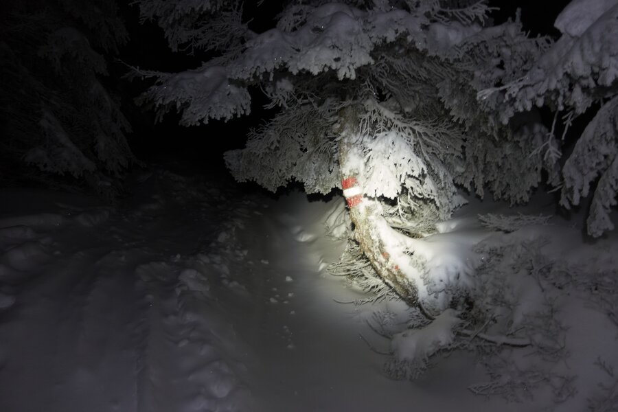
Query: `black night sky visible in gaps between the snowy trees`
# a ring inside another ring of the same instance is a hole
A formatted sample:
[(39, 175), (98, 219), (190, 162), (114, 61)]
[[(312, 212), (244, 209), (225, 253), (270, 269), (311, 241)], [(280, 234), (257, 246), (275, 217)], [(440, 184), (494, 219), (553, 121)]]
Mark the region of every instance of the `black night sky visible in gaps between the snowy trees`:
[[(271, 8), (266, 6), (266, 3), (269, 3), (268, 0), (264, 1), (261, 6), (256, 3), (258, 2), (246, 2), (245, 14), (253, 19), (251, 29), (262, 32), (273, 26), (271, 16), (276, 14), (276, 12), (273, 13), (273, 4), (278, 2), (271, 1)], [(525, 29), (529, 30), (532, 35), (558, 36), (558, 31), (553, 28), (553, 21), (569, 1), (495, 0), (491, 3), (492, 6), (500, 8), (491, 14), (496, 23), (502, 23), (514, 17), (517, 8), (520, 8)], [(276, 6), (274, 10), (277, 10)], [(140, 25), (137, 6), (125, 5), (123, 13), (130, 32), (130, 40), (122, 50), (120, 58), (128, 64), (161, 71), (181, 71), (200, 64), (199, 56), (171, 52), (165, 45), (163, 32), (155, 24)], [(126, 70), (126, 67), (118, 65), (117, 71), (123, 70)], [(140, 91), (144, 90), (144, 87), (146, 87), (144, 82), (122, 83), (124, 109), (135, 130), (130, 137), (131, 144), (138, 157), (176, 157), (182, 161), (195, 163), (207, 170), (220, 171), (223, 166), (222, 153), (233, 148), (242, 148), (244, 135), (249, 128), (260, 124), (261, 118), (264, 117), (261, 108), (264, 101), (260, 100), (260, 93), (254, 93), (253, 114), (248, 117), (233, 119), (227, 123), (211, 122), (207, 126), (185, 128), (177, 124), (179, 116), (170, 113), (165, 115), (163, 123), (153, 126), (154, 115), (143, 113), (130, 102)]]

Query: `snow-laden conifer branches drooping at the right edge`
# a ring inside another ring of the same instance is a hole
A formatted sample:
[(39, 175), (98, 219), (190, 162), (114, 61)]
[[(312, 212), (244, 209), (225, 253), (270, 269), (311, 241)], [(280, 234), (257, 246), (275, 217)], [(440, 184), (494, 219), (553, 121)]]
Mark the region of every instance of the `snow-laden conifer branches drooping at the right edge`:
[[(529, 43), (528, 49), (534, 51), (536, 48), (538, 58), (529, 59), (527, 65), (519, 65), (518, 76), (501, 84), (492, 84), (491, 78), (477, 76), (477, 98), (488, 106), (500, 107), (504, 123), (511, 121), (515, 113), (531, 111), (535, 106), (547, 106), (556, 115), (566, 111), (564, 141), (575, 117), (595, 113), (577, 139), (575, 150), (564, 162), (564, 168), (561, 171), (556, 166), (548, 168), (551, 183), (562, 190), (560, 203), (564, 207), (577, 205), (580, 198), (592, 194), (587, 227), (588, 234), (595, 237), (614, 228), (609, 214), (617, 205), (618, 165), (614, 163), (617, 151), (617, 18), (615, 2), (573, 1), (556, 19), (555, 25), (562, 36), (556, 43)], [(503, 60), (505, 64), (512, 61), (514, 59)], [(597, 110), (595, 106), (600, 108)], [(554, 136), (554, 130), (555, 125), (545, 141), (547, 150), (543, 159), (558, 165), (562, 143)], [(599, 176), (599, 185), (591, 190)]]

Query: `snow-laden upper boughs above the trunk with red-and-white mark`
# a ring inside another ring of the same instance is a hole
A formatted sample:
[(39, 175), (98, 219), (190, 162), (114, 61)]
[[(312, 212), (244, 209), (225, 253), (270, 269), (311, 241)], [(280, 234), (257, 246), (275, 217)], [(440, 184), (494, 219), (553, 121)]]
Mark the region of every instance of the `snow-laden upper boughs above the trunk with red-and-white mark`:
[[(140, 3), (145, 17), (159, 18), (172, 47), (189, 43), (191, 47), (223, 52), (202, 67), (163, 76), (158, 88), (151, 90), (157, 106), (176, 103), (182, 109), (183, 124), (207, 123), (209, 119), (230, 119), (249, 113), (247, 85), (273, 80), (274, 73), (281, 71), (293, 75), (334, 71), (339, 80), (355, 79), (360, 67), (376, 62), (371, 56), (376, 47), (396, 40), (412, 43), (419, 50), (442, 51), (480, 30), (477, 24), (445, 25), (442, 22), (450, 14), (460, 14), (466, 23), (472, 23), (481, 19), (487, 10), (482, 2), (463, 10), (448, 10), (439, 1), (409, 1), (415, 3), (409, 10), (392, 8), (387, 1), (375, 2), (367, 10), (341, 2), (317, 2), (319, 5), (290, 5), (280, 16), (277, 27), (255, 34), (240, 23), (240, 12), (234, 12), (236, 6), (229, 3), (233, 2)], [(206, 28), (196, 40), (196, 29), (183, 26), (189, 22), (182, 16), (188, 19), (187, 14), (214, 12), (225, 5), (229, 12), (208, 14), (204, 17), (208, 23), (200, 25), (220, 27), (225, 22), (228, 28), (236, 30), (236, 42), (216, 42)], [(213, 19), (220, 21), (215, 23)], [(282, 93), (292, 91), (288, 81), (278, 81), (275, 86)], [(165, 89), (164, 93), (158, 93), (161, 88)]]

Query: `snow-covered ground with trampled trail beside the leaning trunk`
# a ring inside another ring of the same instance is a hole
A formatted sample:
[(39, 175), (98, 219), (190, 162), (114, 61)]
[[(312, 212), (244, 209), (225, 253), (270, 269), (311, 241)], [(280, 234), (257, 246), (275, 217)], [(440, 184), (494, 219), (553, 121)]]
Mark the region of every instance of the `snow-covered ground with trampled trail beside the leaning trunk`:
[[(415, 382), (391, 380), (377, 353), (389, 342), (367, 322), (406, 308), (340, 303), (363, 294), (325, 271), (344, 247), (321, 225), (333, 203), (163, 168), (134, 185), (114, 207), (0, 193), (0, 411), (585, 411), (599, 382), (615, 385), (595, 365), (618, 367), (615, 312), (575, 289), (560, 304), (571, 356), (556, 370), (575, 376), (577, 393), (557, 407), (542, 391), (523, 403), (474, 396), (468, 386), (487, 376), (469, 352)], [(615, 234), (586, 244), (580, 223), (558, 218), (479, 229), (489, 207), (441, 227), (431, 241), (450, 249), (436, 262), (470, 253), (471, 238), (508, 247), (542, 234), (548, 256), (615, 277)]]

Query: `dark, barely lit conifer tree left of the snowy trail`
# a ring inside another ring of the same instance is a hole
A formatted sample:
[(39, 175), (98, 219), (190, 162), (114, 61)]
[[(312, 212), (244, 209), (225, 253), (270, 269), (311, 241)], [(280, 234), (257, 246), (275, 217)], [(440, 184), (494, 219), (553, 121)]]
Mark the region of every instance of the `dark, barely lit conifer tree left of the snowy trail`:
[[(130, 125), (104, 78), (127, 40), (113, 0), (7, 1), (0, 88), (5, 179), (87, 187), (113, 196), (133, 159)], [(60, 179), (62, 180), (62, 179)]]

